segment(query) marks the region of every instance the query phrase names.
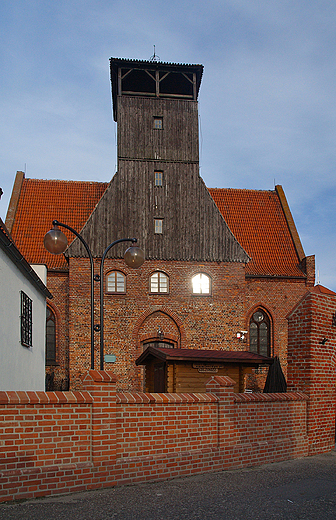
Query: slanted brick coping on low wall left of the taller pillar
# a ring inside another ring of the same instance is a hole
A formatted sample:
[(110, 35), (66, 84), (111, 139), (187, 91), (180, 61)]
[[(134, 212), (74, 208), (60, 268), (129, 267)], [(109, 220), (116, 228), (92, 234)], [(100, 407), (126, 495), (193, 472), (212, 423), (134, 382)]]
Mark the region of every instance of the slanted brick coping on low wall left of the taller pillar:
[(0, 404), (91, 404), (89, 392), (0, 391)]

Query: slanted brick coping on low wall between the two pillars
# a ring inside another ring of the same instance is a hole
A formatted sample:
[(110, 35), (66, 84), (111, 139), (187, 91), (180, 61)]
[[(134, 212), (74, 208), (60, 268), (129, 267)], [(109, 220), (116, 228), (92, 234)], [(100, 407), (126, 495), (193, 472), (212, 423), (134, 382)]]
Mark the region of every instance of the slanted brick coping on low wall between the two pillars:
[(122, 403), (157, 403), (157, 404), (177, 404), (177, 403), (214, 403), (218, 401), (216, 395), (210, 393), (195, 394), (156, 394), (143, 392), (118, 392), (117, 404)]

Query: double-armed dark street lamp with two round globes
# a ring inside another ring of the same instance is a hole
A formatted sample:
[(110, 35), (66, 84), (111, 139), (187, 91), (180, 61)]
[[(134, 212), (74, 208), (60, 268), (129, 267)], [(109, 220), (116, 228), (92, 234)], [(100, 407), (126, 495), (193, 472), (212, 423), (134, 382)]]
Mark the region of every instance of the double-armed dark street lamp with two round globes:
[[(124, 260), (126, 265), (132, 268), (138, 268), (140, 267), (145, 260), (145, 256), (143, 251), (137, 247), (134, 246), (137, 242), (136, 238), (121, 238), (119, 240), (115, 240), (110, 244), (104, 251), (104, 254), (102, 256), (101, 264), (100, 264), (100, 276), (94, 276), (94, 265), (93, 265), (93, 257), (92, 253), (89, 249), (89, 246), (85, 242), (84, 238), (77, 233), (75, 229), (68, 226), (67, 224), (62, 224), (58, 220), (53, 220), (52, 222), (53, 228), (46, 233), (43, 243), (44, 247), (49, 251), (49, 253), (52, 253), (54, 255), (60, 255), (64, 253), (64, 251), (67, 248), (68, 240), (63, 231), (59, 229), (59, 227), (63, 227), (65, 229), (68, 229), (76, 235), (77, 238), (82, 242), (84, 245), (90, 259), (90, 267), (91, 267), (91, 369), (94, 370), (94, 331), (100, 331), (100, 369), (104, 369), (104, 284), (103, 284), (103, 278), (104, 278), (104, 261), (105, 257), (108, 253), (108, 251), (116, 244), (119, 244), (120, 242), (132, 242), (132, 246), (129, 247), (124, 255)], [(100, 281), (100, 325), (94, 325), (94, 281)]]

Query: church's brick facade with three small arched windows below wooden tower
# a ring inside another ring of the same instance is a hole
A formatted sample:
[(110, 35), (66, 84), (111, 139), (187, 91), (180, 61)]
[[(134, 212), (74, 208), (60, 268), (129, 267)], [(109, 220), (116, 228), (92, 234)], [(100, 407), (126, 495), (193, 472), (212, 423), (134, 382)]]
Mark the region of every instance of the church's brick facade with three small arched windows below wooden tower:
[[(258, 306), (273, 322), (273, 354), (280, 356), (286, 373), (287, 320), (285, 316), (306, 293), (304, 281), (249, 280), (243, 264), (176, 261), (146, 261), (138, 270), (122, 260), (107, 259), (105, 275), (116, 269), (126, 275), (125, 294), (104, 296), (105, 353), (115, 354), (113, 371), (119, 391), (142, 391), (143, 371), (135, 366), (143, 344), (163, 341), (181, 348), (246, 350), (236, 333), (248, 330), (249, 319)], [(154, 271), (169, 276), (168, 294), (151, 294)], [(95, 272), (99, 271), (96, 262)], [(191, 278), (206, 273), (212, 280), (211, 295), (192, 294)], [(88, 259), (71, 258), (69, 271), (69, 350), (71, 389), (81, 388), (81, 378), (89, 367), (90, 355), (90, 267)], [(95, 323), (99, 323), (99, 284), (95, 286)], [(95, 367), (99, 363), (99, 333), (96, 333)], [(109, 369), (109, 367), (106, 367)], [(255, 378), (254, 386), (258, 388)], [(262, 388), (262, 384), (260, 383)]]

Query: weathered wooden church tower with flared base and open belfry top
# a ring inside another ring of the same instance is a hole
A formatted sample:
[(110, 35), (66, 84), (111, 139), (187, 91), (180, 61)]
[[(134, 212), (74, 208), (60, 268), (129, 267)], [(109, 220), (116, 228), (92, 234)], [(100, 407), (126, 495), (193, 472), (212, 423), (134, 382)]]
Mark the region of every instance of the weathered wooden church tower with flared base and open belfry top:
[[(118, 172), (85, 224), (93, 255), (136, 236), (147, 259), (247, 262), (199, 176), (202, 65), (111, 58)], [(122, 257), (124, 247), (108, 256)], [(69, 256), (86, 256), (78, 240)]]

